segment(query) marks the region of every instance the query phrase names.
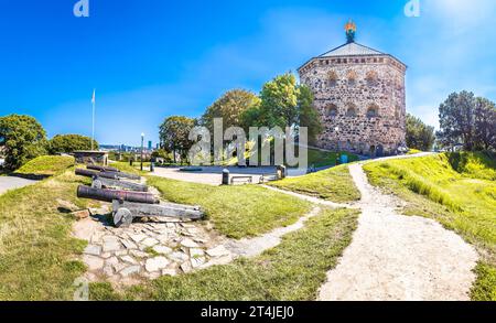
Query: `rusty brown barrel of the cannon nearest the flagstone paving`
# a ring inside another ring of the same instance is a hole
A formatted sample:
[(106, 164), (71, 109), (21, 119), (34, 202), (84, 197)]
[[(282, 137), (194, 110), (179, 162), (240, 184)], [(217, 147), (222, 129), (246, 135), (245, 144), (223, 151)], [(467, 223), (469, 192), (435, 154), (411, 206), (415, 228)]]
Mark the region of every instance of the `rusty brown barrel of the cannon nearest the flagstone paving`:
[(142, 204), (159, 204), (160, 201), (151, 193), (98, 190), (89, 186), (80, 185), (77, 187), (77, 197), (90, 198), (101, 202), (123, 201)]

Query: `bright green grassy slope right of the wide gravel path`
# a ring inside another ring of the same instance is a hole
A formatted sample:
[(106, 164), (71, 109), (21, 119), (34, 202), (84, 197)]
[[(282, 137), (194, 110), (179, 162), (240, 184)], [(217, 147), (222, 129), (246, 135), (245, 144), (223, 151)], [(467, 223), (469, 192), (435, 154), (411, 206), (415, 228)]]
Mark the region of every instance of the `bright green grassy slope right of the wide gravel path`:
[(496, 301), (495, 163), (494, 155), (452, 153), (364, 166), (374, 185), (408, 202), (405, 214), (436, 219), (478, 249), (473, 300)]

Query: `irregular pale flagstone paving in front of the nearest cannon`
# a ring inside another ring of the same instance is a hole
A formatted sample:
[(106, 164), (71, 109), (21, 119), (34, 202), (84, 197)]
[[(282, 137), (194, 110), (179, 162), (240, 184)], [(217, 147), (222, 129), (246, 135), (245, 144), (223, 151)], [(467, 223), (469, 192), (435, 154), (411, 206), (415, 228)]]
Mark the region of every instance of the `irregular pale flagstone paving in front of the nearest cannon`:
[(94, 215), (74, 227), (74, 235), (88, 241), (83, 261), (89, 281), (133, 284), (228, 263), (236, 257), (224, 248), (226, 238), (203, 223), (151, 219), (116, 228), (107, 223), (107, 213), (105, 207), (91, 209)]

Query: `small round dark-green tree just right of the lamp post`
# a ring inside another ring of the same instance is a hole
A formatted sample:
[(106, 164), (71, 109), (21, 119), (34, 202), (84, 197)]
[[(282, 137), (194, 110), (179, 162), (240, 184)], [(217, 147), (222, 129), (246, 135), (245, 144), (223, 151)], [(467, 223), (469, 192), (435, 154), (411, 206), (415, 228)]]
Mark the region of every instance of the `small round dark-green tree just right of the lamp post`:
[(183, 116), (169, 117), (160, 126), (161, 147), (173, 153), (174, 163), (177, 162), (176, 153), (180, 153), (182, 159), (186, 158), (187, 151), (193, 146), (188, 137), (194, 127), (195, 119)]

